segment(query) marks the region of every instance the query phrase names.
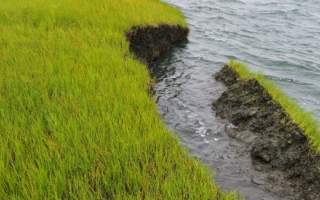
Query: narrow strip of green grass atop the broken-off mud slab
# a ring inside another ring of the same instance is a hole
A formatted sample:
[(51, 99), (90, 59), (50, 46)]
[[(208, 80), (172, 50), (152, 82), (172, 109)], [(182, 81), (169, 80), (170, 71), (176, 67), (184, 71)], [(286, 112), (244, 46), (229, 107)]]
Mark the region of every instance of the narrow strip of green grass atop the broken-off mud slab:
[(240, 62), (230, 61), (228, 65), (233, 68), (240, 78), (255, 78), (259, 83), (266, 88), (273, 99), (280, 103), (284, 110), (291, 117), (293, 122), (307, 135), (310, 144), (317, 151), (320, 152), (320, 129), (319, 124), (315, 120), (313, 113), (306, 112), (296, 101), (288, 97), (279, 87), (276, 87), (272, 81), (266, 80), (262, 73), (252, 73), (246, 65)]

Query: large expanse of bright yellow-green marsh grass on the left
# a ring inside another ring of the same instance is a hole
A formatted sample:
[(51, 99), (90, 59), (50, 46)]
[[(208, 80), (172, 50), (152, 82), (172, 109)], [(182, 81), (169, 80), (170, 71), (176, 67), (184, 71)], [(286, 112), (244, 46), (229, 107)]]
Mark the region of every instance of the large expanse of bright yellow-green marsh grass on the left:
[(158, 0), (0, 0), (0, 199), (234, 199), (147, 94), (125, 30)]

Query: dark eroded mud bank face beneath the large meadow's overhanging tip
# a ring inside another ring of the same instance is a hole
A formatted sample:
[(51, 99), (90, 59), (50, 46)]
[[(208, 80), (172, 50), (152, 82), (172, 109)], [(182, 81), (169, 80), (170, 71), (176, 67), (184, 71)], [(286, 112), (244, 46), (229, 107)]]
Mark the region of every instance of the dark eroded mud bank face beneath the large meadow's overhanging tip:
[(188, 34), (187, 27), (161, 24), (157, 27), (132, 27), (126, 31), (126, 38), (130, 42), (130, 52), (142, 62), (149, 63), (166, 51), (171, 43), (185, 39)]

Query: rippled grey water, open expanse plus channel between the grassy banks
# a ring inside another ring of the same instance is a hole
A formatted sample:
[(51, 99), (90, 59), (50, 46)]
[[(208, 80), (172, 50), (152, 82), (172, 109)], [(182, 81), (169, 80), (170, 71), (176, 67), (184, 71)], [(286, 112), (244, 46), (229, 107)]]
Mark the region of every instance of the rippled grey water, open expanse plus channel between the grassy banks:
[(252, 163), (235, 127), (215, 117), (211, 103), (226, 88), (214, 80), (230, 59), (262, 71), (320, 121), (320, 2), (318, 0), (166, 0), (191, 29), (150, 66), (158, 110), (169, 129), (216, 173), (216, 184), (247, 199), (291, 199), (276, 174)]

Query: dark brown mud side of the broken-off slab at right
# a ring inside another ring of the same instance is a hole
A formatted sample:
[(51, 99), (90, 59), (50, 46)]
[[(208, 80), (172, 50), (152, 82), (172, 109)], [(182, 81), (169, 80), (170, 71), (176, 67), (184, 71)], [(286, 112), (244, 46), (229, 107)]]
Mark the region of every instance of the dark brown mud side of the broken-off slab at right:
[(239, 79), (227, 65), (215, 78), (228, 86), (213, 102), (216, 115), (257, 136), (248, 145), (253, 162), (281, 170), (294, 183), (292, 199), (320, 199), (320, 155), (281, 105), (256, 79)]

